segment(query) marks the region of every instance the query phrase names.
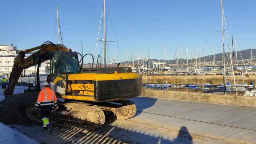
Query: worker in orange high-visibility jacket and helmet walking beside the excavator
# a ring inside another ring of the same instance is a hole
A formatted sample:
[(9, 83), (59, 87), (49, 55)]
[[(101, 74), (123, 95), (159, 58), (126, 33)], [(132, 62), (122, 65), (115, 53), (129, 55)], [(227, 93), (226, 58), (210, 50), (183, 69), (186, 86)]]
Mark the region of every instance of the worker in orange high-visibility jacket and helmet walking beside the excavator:
[(44, 88), (39, 92), (35, 108), (40, 107), (41, 118), (43, 122), (44, 131), (51, 133), (52, 127), (49, 123), (49, 117), (52, 108), (57, 107), (57, 98), (54, 90), (51, 90), (48, 82), (43, 83)]

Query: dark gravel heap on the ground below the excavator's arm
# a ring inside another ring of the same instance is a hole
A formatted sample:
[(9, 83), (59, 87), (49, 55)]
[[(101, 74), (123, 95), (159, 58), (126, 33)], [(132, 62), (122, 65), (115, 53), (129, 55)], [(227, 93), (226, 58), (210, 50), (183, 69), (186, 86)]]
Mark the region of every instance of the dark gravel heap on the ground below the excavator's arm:
[(38, 92), (27, 92), (8, 96), (0, 102), (0, 122), (8, 125), (38, 125), (26, 116), (26, 104), (35, 103)]

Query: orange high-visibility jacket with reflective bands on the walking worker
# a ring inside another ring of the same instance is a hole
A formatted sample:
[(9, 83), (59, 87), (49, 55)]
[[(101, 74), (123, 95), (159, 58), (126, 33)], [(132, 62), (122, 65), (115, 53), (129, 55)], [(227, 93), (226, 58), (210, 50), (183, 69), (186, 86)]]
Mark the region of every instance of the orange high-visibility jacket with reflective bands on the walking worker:
[(57, 106), (57, 98), (54, 90), (44, 88), (39, 92), (35, 106)]

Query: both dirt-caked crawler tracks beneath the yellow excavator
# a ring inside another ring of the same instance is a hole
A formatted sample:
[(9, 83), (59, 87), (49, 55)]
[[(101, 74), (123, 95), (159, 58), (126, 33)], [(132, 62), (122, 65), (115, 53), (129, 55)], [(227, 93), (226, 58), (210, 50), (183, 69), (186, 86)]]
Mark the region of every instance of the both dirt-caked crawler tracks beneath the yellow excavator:
[[(137, 112), (136, 105), (130, 100), (118, 100), (104, 102), (102, 105), (98, 103), (85, 102), (60, 102), (59, 109), (52, 110), (50, 123), (61, 127), (78, 127), (86, 130), (95, 130), (104, 125), (105, 120), (127, 120), (133, 118)], [(104, 112), (113, 112), (115, 118)], [(42, 122), (40, 112), (34, 110), (34, 104), (28, 104), (26, 107), (28, 118)]]

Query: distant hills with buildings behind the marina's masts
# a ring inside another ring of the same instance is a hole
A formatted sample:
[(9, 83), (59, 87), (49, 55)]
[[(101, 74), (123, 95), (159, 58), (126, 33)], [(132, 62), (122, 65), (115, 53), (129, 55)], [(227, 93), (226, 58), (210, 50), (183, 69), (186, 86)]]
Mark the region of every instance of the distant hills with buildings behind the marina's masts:
[[(232, 52), (231, 52), (231, 54), (232, 54)], [(242, 56), (242, 57), (241, 57)], [(252, 57), (253, 58), (255, 58), (255, 56), (256, 56), (256, 49), (252, 49)], [(184, 57), (186, 57), (186, 55), (184, 55)], [(247, 49), (247, 50), (240, 50), (240, 51), (237, 51), (237, 59), (238, 59), (238, 62), (239, 61), (242, 61), (242, 60), (244, 60), (244, 61), (248, 61), (248, 60), (250, 60), (250, 58), (251, 58), (251, 49)], [(196, 58), (195, 58), (196, 59)], [(198, 58), (197, 58), (198, 59)], [(208, 56), (203, 56), (203, 57), (201, 57), (200, 58), (200, 60), (201, 60), (201, 63), (202, 62), (213, 62), (213, 59), (214, 59), (214, 55), (208, 55)], [(163, 59), (160, 59), (160, 60), (157, 60), (157, 59), (149, 59), (149, 61), (150, 61), (150, 67), (151, 67), (151, 63), (152, 63), (152, 61), (154, 61), (154, 62), (164, 62), (164, 61), (166, 61), (166, 64), (168, 65), (168, 64), (170, 64), (170, 65), (172, 65), (172, 64), (176, 64), (177, 63), (177, 59), (175, 59), (175, 60), (163, 60)], [(186, 59), (183, 59), (182, 58), (182, 61), (183, 61), (183, 63), (184, 64), (186, 64), (186, 62), (187, 62), (187, 60)], [(225, 53), (225, 61), (227, 62), (227, 61), (230, 61), (230, 56), (229, 56), (229, 52), (226, 52)], [(236, 52), (234, 51), (234, 61), (236, 61)], [(190, 63), (191, 62), (191, 59), (189, 59), (188, 60), (188, 63)], [(192, 58), (192, 62), (194, 62), (194, 59)], [(215, 54), (215, 62), (222, 62), (222, 53), (218, 53), (218, 54)], [(126, 62), (121, 62), (121, 64), (125, 64)], [(127, 63), (132, 63), (131, 61), (127, 61)], [(178, 59), (178, 63), (179, 63), (179, 65), (181, 64), (181, 58), (179, 58)], [(228, 62), (229, 63), (229, 62)], [(136, 60), (136, 61), (134, 61), (134, 64), (141, 64), (141, 60)], [(144, 62), (144, 65), (145, 65), (146, 63)]]

